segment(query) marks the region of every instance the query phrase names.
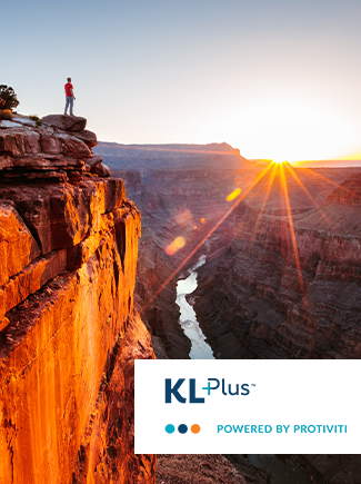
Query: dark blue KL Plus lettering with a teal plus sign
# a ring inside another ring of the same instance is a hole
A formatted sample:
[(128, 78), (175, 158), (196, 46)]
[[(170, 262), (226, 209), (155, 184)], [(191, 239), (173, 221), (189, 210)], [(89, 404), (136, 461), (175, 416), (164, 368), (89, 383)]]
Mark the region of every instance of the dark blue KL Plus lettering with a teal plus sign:
[[(166, 403), (172, 403), (173, 398), (182, 404), (187, 403), (187, 384), (183, 385), (184, 382), (185, 378), (178, 378), (177, 382), (172, 384), (171, 378), (166, 378)], [(208, 378), (207, 386), (203, 386), (201, 389), (205, 391), (208, 396), (211, 395), (211, 392), (219, 392), (223, 396), (247, 396), (250, 394), (250, 387), (252, 386), (255, 385), (248, 383), (237, 383), (234, 385), (227, 383), (225, 378), (222, 378), (221, 381), (218, 378)], [(189, 378), (188, 402), (198, 404), (205, 403), (203, 396), (195, 395), (195, 378)]]

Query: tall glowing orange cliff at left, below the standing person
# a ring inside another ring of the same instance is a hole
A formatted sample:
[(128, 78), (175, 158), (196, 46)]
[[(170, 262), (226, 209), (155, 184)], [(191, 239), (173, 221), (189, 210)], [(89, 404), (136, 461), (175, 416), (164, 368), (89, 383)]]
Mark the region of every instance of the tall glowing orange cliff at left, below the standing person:
[(154, 357), (133, 305), (140, 213), (122, 180), (86, 175), (73, 134), (0, 138), (0, 483), (153, 483), (154, 456), (133, 453), (133, 360)]

